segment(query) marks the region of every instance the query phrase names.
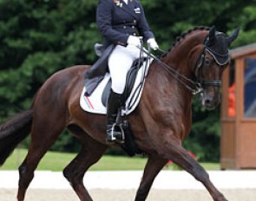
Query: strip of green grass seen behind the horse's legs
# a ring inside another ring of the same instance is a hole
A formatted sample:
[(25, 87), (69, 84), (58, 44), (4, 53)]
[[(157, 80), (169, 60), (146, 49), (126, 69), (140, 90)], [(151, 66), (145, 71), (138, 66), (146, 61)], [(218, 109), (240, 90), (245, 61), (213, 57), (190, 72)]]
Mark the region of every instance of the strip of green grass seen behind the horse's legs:
[[(27, 154), (27, 150), (16, 149), (0, 170), (17, 170)], [(47, 152), (37, 167), (37, 170), (49, 170), (59, 172), (64, 169), (69, 162), (75, 158), (75, 153)], [(125, 156), (108, 156), (104, 155), (102, 159), (93, 165), (90, 171), (127, 171), (127, 170), (143, 170), (147, 158), (137, 156), (129, 158)], [(220, 170), (218, 163), (200, 163), (207, 170)], [(165, 170), (174, 169), (173, 165), (167, 165)]]

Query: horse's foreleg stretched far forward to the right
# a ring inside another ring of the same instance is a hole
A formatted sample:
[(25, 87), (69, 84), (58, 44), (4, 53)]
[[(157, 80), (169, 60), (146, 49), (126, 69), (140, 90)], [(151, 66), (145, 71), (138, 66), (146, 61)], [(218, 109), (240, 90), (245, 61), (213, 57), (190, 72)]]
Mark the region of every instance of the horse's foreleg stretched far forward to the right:
[(169, 159), (172, 159), (174, 163), (180, 165), (184, 170), (191, 173), (194, 178), (205, 185), (214, 201), (226, 201), (226, 198), (210, 181), (209, 175), (205, 169), (187, 153), (180, 142), (172, 143), (172, 145), (167, 146), (167, 150), (165, 150), (163, 154), (166, 155), (166, 157), (167, 154), (169, 154)]

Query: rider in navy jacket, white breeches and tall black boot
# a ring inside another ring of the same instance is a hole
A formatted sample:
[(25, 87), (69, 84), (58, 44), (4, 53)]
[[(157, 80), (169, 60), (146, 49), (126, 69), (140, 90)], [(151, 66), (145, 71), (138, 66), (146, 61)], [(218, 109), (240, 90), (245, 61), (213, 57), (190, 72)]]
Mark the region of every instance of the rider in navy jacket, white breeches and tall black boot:
[(143, 41), (148, 42), (151, 49), (158, 49), (158, 44), (139, 0), (99, 0), (96, 23), (105, 39), (104, 47), (115, 44), (108, 57), (112, 86), (107, 103), (107, 140), (115, 142), (121, 139), (121, 133), (115, 131), (114, 124), (121, 107), (126, 75), (135, 59), (140, 57), (139, 36), (143, 36)]

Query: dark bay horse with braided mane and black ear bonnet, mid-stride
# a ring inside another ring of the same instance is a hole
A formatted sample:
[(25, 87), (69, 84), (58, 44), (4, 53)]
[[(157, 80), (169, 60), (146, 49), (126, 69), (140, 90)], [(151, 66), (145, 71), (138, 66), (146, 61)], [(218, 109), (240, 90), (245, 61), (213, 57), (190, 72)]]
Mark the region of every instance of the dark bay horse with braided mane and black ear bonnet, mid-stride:
[[(226, 36), (215, 29), (194, 28), (151, 64), (139, 106), (127, 117), (135, 142), (148, 154), (136, 201), (147, 198), (154, 178), (170, 159), (205, 185), (213, 200), (226, 200), (181, 142), (192, 124), (193, 92), (200, 89), (201, 103), (207, 108), (220, 103), (228, 46), (237, 36), (238, 29)], [(18, 201), (24, 200), (36, 166), (65, 127), (80, 139), (82, 149), (63, 174), (81, 200), (92, 200), (82, 183), (83, 176), (113, 145), (106, 142), (106, 116), (86, 113), (79, 105), (88, 68), (75, 66), (52, 75), (37, 92), (30, 110), (0, 126), (0, 165), (31, 134), (28, 155), (19, 167)]]

